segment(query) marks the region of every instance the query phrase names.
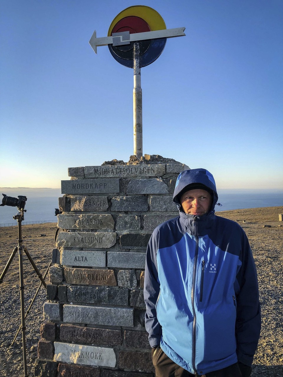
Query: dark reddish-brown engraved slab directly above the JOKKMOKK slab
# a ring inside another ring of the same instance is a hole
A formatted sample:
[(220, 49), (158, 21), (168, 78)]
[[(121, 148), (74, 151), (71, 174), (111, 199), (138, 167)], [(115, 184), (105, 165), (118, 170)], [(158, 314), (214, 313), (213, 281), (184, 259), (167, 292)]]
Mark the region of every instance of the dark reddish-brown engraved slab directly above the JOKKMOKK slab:
[(121, 330), (82, 327), (62, 324), (60, 339), (64, 342), (91, 343), (95, 346), (118, 346), (122, 344)]

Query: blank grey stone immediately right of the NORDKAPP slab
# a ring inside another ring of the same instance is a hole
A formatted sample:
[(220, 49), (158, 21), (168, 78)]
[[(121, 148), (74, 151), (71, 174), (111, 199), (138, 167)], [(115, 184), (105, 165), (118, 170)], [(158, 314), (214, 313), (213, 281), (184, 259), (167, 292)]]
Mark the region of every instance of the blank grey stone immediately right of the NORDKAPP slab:
[(132, 179), (127, 187), (128, 194), (168, 194), (168, 186), (160, 178)]

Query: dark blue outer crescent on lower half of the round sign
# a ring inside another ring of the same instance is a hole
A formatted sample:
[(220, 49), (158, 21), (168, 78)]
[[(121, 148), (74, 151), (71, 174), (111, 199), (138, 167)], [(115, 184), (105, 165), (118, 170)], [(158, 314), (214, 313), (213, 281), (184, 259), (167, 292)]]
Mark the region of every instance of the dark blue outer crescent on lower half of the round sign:
[[(153, 63), (157, 58), (160, 57), (162, 54), (167, 38), (157, 38), (151, 39), (149, 48), (146, 52), (140, 56), (140, 67), (146, 67), (149, 64)], [(141, 41), (142, 42), (142, 41)], [(109, 51), (112, 57), (118, 61), (118, 63), (122, 64), (125, 67), (133, 68), (134, 67), (134, 60), (131, 59), (123, 59), (118, 57), (115, 52), (113, 51), (112, 44), (108, 44)]]

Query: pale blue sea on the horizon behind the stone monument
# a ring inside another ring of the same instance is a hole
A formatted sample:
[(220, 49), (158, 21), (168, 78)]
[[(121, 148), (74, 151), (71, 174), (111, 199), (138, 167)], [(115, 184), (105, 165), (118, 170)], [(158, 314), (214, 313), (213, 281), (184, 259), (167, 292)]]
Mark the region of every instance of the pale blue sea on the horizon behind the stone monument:
[[(217, 191), (218, 203), (221, 203), (222, 206), (216, 205), (215, 211), (283, 205), (283, 190), (218, 189)], [(58, 198), (62, 196), (60, 189), (0, 187), (0, 195), (1, 193), (16, 198), (18, 195), (27, 197), (23, 224), (30, 222), (57, 222), (55, 208), (58, 208)], [(17, 212), (17, 207), (8, 205), (1, 207), (0, 226), (17, 225), (17, 221), (13, 220), (13, 216)]]

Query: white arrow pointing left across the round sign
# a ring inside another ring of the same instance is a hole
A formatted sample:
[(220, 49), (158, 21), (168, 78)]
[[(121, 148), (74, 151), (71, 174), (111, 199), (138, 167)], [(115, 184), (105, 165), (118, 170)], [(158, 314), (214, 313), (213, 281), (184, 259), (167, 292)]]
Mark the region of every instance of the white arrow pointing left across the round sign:
[(135, 41), (143, 41), (147, 39), (156, 38), (172, 38), (172, 37), (184, 37), (186, 28), (176, 28), (176, 29), (164, 29), (155, 31), (146, 31), (143, 33), (129, 34), (129, 32), (113, 33), (113, 37), (101, 37), (96, 38), (96, 31), (92, 34), (89, 44), (97, 54), (97, 46), (107, 46), (108, 44), (113, 44), (114, 46), (119, 46), (122, 44), (130, 44)]

